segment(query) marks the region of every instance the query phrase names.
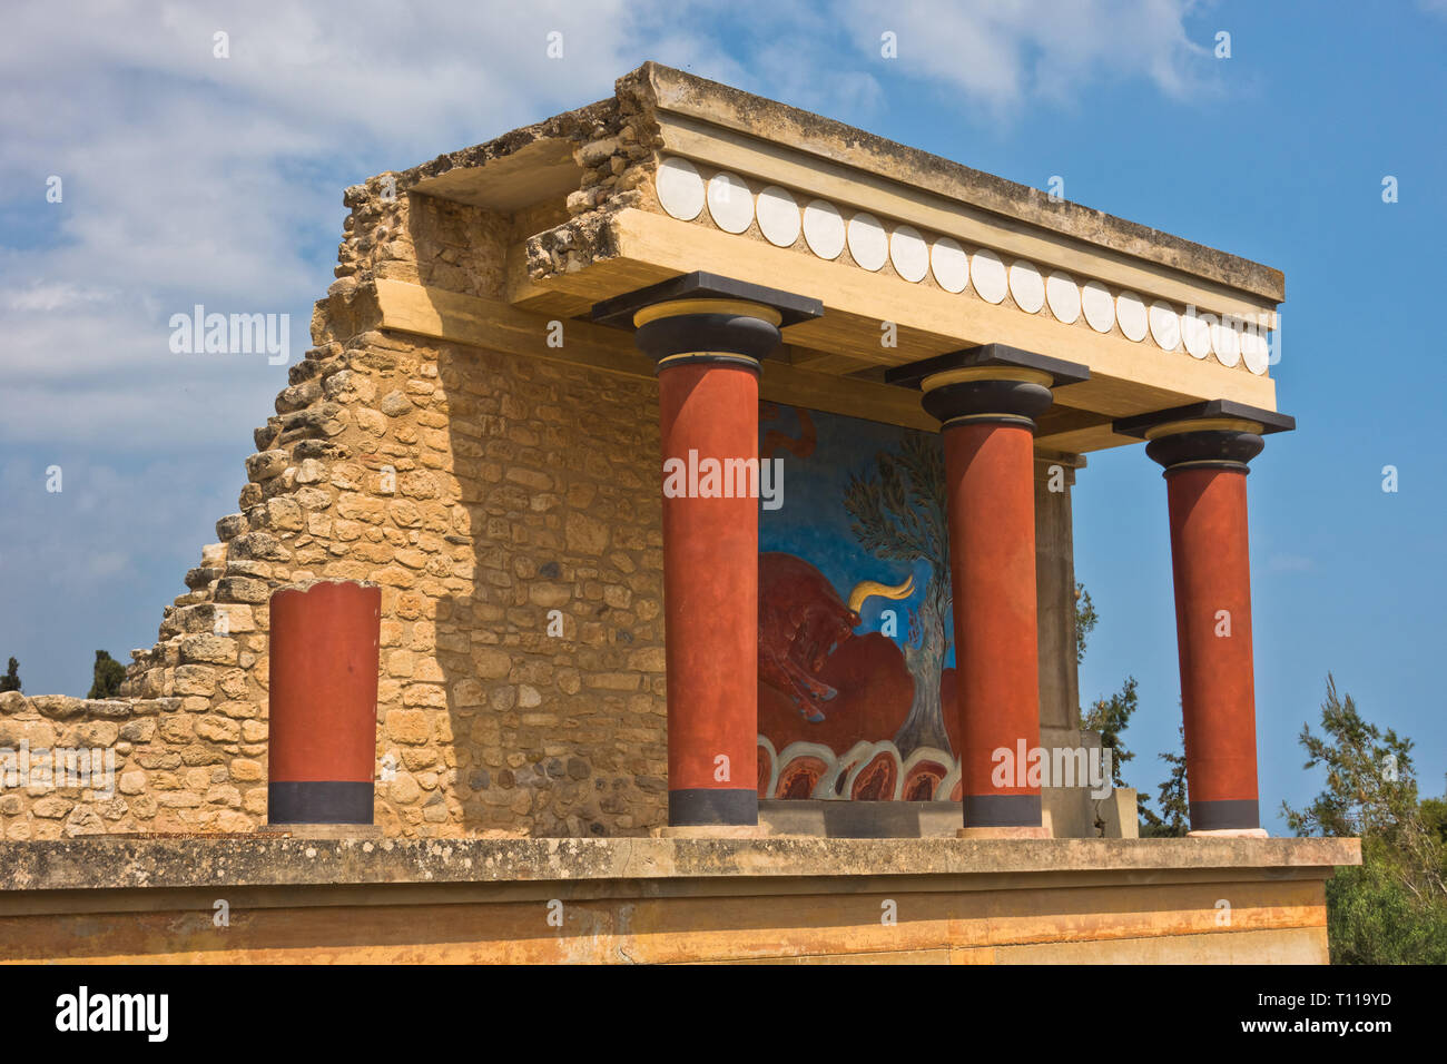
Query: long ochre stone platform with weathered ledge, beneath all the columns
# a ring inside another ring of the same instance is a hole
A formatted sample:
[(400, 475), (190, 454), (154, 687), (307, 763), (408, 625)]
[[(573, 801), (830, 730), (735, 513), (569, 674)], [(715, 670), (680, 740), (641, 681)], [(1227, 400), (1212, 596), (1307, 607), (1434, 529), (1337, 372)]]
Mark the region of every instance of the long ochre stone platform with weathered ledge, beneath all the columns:
[(1360, 860), (1350, 838), (4, 843), (0, 960), (1325, 963), (1325, 880)]

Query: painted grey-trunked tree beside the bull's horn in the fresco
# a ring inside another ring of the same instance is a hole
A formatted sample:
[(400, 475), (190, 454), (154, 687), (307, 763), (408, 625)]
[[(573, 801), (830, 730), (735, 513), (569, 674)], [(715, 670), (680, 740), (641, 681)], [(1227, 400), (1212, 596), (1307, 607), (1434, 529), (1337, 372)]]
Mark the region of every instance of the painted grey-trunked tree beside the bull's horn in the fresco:
[(849, 530), (875, 557), (913, 566), (929, 562), (919, 608), (910, 609), (904, 663), (915, 677), (915, 701), (894, 735), (900, 756), (916, 747), (949, 750), (939, 706), (949, 611), (949, 540), (945, 524), (945, 456), (933, 436), (909, 433), (899, 453), (878, 452), (877, 468), (854, 475), (844, 491)]

